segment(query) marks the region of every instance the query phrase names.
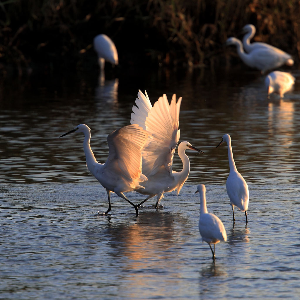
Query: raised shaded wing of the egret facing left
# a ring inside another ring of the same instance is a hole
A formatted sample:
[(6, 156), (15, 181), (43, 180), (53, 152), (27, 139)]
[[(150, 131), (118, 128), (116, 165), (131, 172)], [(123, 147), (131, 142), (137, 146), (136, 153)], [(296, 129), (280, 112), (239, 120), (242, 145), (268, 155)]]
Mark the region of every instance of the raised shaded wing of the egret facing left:
[[(106, 161), (108, 169), (119, 172), (120, 176), (126, 176), (131, 180), (132, 188), (138, 182), (147, 180), (142, 174), (142, 153), (148, 134), (137, 124), (119, 128), (107, 137), (109, 155)], [(137, 182), (138, 181), (138, 182)]]

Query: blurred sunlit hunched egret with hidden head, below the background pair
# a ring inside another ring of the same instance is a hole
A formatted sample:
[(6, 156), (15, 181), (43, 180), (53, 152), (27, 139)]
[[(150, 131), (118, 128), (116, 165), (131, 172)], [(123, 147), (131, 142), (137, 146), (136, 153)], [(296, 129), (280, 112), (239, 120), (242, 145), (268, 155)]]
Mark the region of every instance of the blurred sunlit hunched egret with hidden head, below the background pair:
[(283, 94), (289, 91), (294, 83), (295, 77), (286, 72), (273, 71), (265, 78), (265, 87), (268, 90), (268, 96), (274, 92), (283, 98)]

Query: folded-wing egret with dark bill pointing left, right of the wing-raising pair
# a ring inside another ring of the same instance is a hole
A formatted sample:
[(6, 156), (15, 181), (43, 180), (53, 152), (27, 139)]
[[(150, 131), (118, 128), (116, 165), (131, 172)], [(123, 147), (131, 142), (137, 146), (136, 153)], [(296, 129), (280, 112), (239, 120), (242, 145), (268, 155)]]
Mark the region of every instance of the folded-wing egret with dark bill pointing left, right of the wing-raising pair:
[(232, 148), (231, 148), (231, 138), (229, 134), (224, 134), (222, 140), (217, 145), (220, 146), (223, 143), (227, 143), (228, 146), (228, 160), (229, 160), (229, 176), (226, 180), (226, 190), (230, 199), (232, 214), (233, 214), (233, 224), (235, 223), (234, 217), (234, 206), (238, 207), (241, 211), (245, 212), (246, 223), (247, 220), (247, 209), (249, 203), (249, 190), (245, 179), (238, 173), (235, 167), (235, 162), (233, 160)]

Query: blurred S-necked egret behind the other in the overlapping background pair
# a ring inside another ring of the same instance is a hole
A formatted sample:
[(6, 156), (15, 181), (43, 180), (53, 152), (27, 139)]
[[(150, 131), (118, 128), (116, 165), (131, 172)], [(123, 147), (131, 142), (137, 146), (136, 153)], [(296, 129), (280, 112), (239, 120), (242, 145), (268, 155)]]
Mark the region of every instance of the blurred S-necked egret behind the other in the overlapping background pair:
[(280, 55), (283, 58), (285, 58), (285, 61), (283, 64), (286, 64), (288, 66), (292, 66), (294, 64), (292, 56), (289, 55), (288, 53), (280, 50), (279, 48), (276, 48), (274, 46), (271, 46), (269, 44), (262, 43), (262, 42), (253, 42), (250, 44), (250, 40), (255, 35), (255, 32), (256, 32), (255, 26), (252, 24), (247, 24), (242, 29), (242, 33), (244, 34), (243, 46), (244, 46), (244, 49), (246, 50), (246, 52), (251, 52), (252, 50), (258, 49), (258, 48), (265, 48), (267, 51), (269, 51), (270, 55), (272, 55), (273, 53), (277, 53), (277, 55)]

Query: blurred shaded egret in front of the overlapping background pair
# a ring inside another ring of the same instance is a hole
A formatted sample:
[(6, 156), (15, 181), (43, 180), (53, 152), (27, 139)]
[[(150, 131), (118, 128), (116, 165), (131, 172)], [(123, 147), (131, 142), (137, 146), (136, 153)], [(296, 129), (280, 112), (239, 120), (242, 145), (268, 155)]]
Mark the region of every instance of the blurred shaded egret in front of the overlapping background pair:
[(277, 53), (267, 47), (257, 47), (251, 52), (246, 53), (244, 52), (242, 42), (233, 37), (227, 39), (226, 45), (236, 46), (238, 56), (241, 60), (249, 67), (261, 70), (262, 73), (265, 73), (267, 70), (280, 67), (281, 65), (286, 64), (286, 61), (288, 60), (286, 55)]

